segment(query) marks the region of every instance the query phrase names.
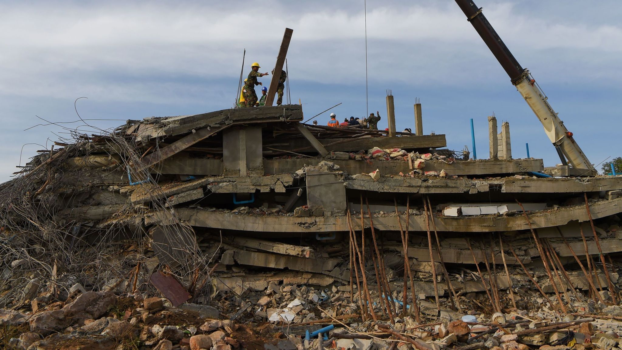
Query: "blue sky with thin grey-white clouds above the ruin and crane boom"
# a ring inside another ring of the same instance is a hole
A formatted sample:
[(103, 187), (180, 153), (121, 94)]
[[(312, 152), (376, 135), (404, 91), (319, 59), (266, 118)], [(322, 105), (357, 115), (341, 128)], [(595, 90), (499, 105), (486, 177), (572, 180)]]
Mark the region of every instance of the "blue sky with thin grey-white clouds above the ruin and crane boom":
[[(596, 168), (622, 156), (622, 2), (476, 4)], [(542, 125), (454, 1), (258, 5), (1, 1), (0, 182), (73, 129), (90, 135), (128, 119), (231, 108), (241, 69), (247, 75), (259, 62), (269, 72), (285, 27), (294, 30), (287, 54), (291, 100), (302, 102), (307, 117), (337, 103), (331, 111), (338, 118), (377, 110), (386, 116), (390, 89), (397, 130), (414, 129), (419, 98), (425, 134), (447, 135), (450, 149), (471, 149), (473, 118), (478, 158), (488, 158), (487, 116), (494, 113), (499, 129), (509, 122), (513, 158), (525, 158), (529, 143), (530, 155), (545, 166), (559, 163)], [(269, 78), (259, 81), (267, 85)], [(76, 112), (85, 122), (75, 123)], [(386, 126), (383, 118), (379, 127)]]

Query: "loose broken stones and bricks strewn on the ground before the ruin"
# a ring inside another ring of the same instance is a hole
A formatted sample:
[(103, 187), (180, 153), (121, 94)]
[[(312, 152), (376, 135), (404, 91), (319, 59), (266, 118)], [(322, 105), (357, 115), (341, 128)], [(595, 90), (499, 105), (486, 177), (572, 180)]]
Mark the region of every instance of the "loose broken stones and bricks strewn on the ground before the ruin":
[[(243, 299), (226, 298), (229, 303), (220, 306), (228, 308), (192, 303), (176, 308), (166, 298), (145, 298), (141, 293), (83, 292), (81, 285), (72, 289), (75, 294), (65, 301), (39, 296), (28, 307), (1, 309), (0, 344), (31, 350), (611, 350), (620, 348), (622, 329), (620, 306), (573, 301), (568, 306), (579, 312), (564, 315), (527, 288), (521, 290), (522, 300), (537, 311), (503, 308), (488, 315), (477, 310), (485, 298), (470, 295), (460, 297), (463, 311), (468, 310), (464, 315), (445, 308), (446, 300), (440, 301), (440, 309), (420, 300), (419, 322), (410, 312), (412, 305), (404, 312), (391, 298), (385, 304), (388, 309), (374, 298), (369, 312), (373, 309), (378, 321), (363, 321), (356, 295), (351, 300), (347, 291), (335, 286), (324, 291), (271, 283), (266, 291), (247, 293)], [(610, 301), (607, 291), (600, 295)], [(254, 318), (241, 316), (246, 310)], [(392, 322), (383, 310), (394, 315)]]

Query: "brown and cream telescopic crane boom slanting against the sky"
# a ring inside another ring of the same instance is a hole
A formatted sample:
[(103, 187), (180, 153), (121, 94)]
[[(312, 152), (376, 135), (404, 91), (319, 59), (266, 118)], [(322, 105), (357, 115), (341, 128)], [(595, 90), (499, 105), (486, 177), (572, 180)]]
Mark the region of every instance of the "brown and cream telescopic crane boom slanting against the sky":
[[(493, 52), (494, 57), (499, 61), (501, 67), (508, 73), (511, 82), (516, 87), (531, 110), (536, 113), (538, 120), (544, 126), (544, 131), (549, 136), (549, 140), (557, 149), (557, 153), (562, 159), (562, 164), (570, 163), (576, 169), (586, 169), (594, 171), (594, 166), (587, 159), (581, 148), (572, 138), (564, 126), (564, 122), (559, 119), (557, 113), (547, 102), (547, 97), (531, 77), (529, 70), (523, 69), (514, 58), (503, 40), (494, 31), (484, 14), (481, 7), (478, 8), (471, 0), (455, 0), (462, 12), (466, 15), (466, 20), (471, 22), (475, 31), (480, 34), (488, 49)], [(566, 161), (568, 159), (568, 161)]]

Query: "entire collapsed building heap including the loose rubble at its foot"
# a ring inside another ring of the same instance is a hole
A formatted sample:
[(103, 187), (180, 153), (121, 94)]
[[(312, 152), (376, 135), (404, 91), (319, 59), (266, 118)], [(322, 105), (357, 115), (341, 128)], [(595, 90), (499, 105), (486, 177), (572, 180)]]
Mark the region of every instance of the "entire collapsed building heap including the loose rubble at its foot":
[(35, 156), (0, 184), (0, 345), (621, 348), (622, 177), (302, 120), (152, 117)]

